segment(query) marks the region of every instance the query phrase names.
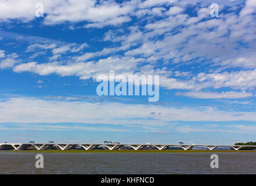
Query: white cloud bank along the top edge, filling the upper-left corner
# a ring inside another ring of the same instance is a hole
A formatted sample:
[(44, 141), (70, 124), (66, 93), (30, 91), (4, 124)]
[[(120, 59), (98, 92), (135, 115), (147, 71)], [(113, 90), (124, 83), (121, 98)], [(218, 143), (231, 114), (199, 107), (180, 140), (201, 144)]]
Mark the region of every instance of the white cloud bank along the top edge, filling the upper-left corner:
[[(0, 17), (3, 22), (10, 19), (18, 19), (29, 22), (36, 19), (35, 7), (37, 0), (8, 0), (0, 2)], [(115, 24), (127, 21), (120, 19), (121, 16), (128, 15), (134, 9), (129, 2), (116, 3), (113, 1), (102, 1), (98, 3), (94, 0), (69, 0), (69, 1), (41, 1), (44, 5), (44, 24), (60, 24), (64, 22), (93, 22), (104, 24)]]

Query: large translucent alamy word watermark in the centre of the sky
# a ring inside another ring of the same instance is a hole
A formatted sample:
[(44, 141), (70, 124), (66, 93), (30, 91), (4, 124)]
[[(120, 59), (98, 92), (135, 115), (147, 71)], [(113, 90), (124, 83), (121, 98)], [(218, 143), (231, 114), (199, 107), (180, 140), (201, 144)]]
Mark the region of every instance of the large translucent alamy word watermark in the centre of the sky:
[[(97, 88), (97, 95), (117, 95), (117, 96), (150, 96), (149, 102), (159, 100), (159, 75), (134, 75), (115, 76), (115, 71), (110, 70), (109, 77), (102, 74), (97, 76), (97, 82), (101, 82)], [(108, 84), (109, 83), (109, 84)], [(115, 85), (115, 83), (118, 83)], [(128, 86), (128, 87), (127, 87)], [(128, 91), (128, 93), (127, 93)]]

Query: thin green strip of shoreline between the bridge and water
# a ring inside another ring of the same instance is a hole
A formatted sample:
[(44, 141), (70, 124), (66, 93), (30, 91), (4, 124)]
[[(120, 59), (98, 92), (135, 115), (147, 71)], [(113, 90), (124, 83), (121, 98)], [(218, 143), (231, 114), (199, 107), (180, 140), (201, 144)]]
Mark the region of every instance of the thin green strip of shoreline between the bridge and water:
[(209, 150), (117, 150), (117, 151), (110, 151), (110, 150), (92, 150), (92, 151), (83, 151), (83, 150), (67, 150), (67, 151), (61, 151), (61, 150), (44, 150), (44, 151), (37, 151), (37, 150), (26, 150), (26, 151), (0, 151), (1, 152), (13, 152), (13, 153), (243, 153), (243, 152), (256, 152), (251, 150), (240, 150), (240, 151), (233, 151), (233, 150), (223, 150), (223, 151), (209, 151)]

